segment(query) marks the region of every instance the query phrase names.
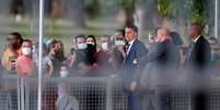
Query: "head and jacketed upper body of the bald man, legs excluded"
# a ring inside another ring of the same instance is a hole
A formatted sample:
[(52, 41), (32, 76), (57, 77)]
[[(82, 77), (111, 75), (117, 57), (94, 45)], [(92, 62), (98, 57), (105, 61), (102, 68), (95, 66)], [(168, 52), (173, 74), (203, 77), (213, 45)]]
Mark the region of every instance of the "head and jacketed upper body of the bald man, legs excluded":
[(155, 62), (159, 65), (175, 64), (178, 60), (178, 49), (172, 41), (169, 28), (161, 27), (157, 32), (157, 44), (148, 56), (138, 59), (138, 63)]

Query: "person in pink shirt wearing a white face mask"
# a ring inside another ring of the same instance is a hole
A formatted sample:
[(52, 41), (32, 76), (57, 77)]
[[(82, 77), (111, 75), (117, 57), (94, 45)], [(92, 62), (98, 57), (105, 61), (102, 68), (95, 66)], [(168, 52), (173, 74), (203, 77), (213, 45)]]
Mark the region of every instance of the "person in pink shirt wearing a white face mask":
[(19, 77), (28, 77), (33, 74), (35, 66), (32, 60), (32, 41), (25, 39), (22, 44), (22, 54), (16, 60), (16, 72)]

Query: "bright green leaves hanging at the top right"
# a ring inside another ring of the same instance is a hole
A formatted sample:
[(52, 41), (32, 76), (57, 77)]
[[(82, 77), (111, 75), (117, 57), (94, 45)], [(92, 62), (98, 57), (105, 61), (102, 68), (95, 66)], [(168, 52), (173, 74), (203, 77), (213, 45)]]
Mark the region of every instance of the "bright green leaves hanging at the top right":
[[(176, 2), (177, 0), (158, 0), (158, 12), (164, 17), (169, 20), (175, 19), (175, 13), (177, 9)], [(206, 4), (207, 0), (184, 0), (183, 8), (186, 8), (185, 12), (187, 14), (187, 21), (190, 23), (197, 22), (201, 25), (205, 25), (206, 20)], [(182, 9), (183, 10), (183, 9)]]

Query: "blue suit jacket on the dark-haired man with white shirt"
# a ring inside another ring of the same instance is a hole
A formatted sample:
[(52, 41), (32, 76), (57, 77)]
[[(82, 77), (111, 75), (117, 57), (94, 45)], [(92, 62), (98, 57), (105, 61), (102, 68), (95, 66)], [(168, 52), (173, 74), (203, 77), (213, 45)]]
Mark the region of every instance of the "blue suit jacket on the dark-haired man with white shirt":
[(129, 53), (124, 60), (123, 84), (129, 87), (131, 82), (138, 81), (144, 64), (137, 64), (134, 61), (146, 56), (148, 50), (146, 46), (136, 39), (130, 47)]

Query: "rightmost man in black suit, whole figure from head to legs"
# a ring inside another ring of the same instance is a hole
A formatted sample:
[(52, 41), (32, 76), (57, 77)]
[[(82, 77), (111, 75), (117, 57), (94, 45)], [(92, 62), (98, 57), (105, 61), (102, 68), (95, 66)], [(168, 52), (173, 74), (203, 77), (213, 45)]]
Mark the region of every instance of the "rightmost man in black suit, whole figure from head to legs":
[(192, 95), (193, 110), (208, 110), (207, 69), (210, 63), (211, 49), (207, 39), (201, 35), (202, 28), (194, 23), (189, 28), (189, 36), (193, 39), (189, 45), (186, 65), (190, 72), (194, 90)]

